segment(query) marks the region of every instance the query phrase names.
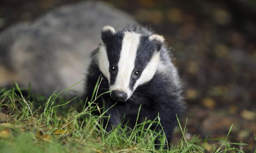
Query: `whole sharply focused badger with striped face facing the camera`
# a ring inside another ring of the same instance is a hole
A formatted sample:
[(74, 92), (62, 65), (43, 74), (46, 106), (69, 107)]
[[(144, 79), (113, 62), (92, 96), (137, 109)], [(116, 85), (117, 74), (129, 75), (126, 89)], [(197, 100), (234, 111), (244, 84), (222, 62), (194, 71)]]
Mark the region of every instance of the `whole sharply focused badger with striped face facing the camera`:
[[(106, 114), (111, 125), (119, 125), (125, 116), (133, 127), (140, 108), (137, 122), (145, 118), (153, 121), (159, 114), (166, 138), (171, 141), (176, 114), (183, 112), (184, 102), (164, 37), (148, 28), (128, 25), (121, 30), (104, 26), (101, 38), (102, 43), (92, 53), (85, 97), (92, 95), (98, 77), (102, 76), (98, 93), (110, 93), (102, 95), (97, 103), (110, 108)], [(111, 128), (107, 126), (107, 130)]]

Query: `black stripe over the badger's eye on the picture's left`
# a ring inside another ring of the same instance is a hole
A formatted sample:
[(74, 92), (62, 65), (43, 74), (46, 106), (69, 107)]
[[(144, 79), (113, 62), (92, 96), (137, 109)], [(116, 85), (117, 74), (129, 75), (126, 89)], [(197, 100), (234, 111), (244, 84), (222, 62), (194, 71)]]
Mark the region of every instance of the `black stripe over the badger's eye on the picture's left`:
[[(119, 62), (120, 53), (122, 50), (122, 42), (123, 32), (117, 32), (112, 37), (108, 37), (108, 39), (106, 39), (104, 42), (109, 59), (110, 85), (114, 84), (116, 81), (116, 75), (118, 72), (117, 64)], [(115, 66), (115, 71), (112, 70), (112, 65)]]

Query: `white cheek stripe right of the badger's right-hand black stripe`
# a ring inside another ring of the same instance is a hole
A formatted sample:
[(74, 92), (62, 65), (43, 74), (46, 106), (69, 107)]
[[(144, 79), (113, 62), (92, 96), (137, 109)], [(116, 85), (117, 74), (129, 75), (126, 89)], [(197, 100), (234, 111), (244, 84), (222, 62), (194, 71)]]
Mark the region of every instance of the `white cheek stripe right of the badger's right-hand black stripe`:
[(153, 78), (154, 74), (156, 73), (157, 65), (159, 63), (159, 58), (160, 58), (160, 52), (155, 53), (152, 56), (152, 59), (150, 60), (150, 62), (147, 64), (147, 66), (143, 70), (140, 78), (136, 81), (136, 83), (133, 87), (133, 91), (137, 88), (137, 86), (139, 86), (143, 83), (146, 83)]

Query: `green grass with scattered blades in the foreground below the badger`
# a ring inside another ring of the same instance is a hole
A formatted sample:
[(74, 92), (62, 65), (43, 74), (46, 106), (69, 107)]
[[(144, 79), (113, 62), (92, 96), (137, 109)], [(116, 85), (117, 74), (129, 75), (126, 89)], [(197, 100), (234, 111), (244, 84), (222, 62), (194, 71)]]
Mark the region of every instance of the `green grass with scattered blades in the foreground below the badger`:
[[(246, 144), (228, 141), (232, 126), (225, 139), (201, 140), (193, 137), (188, 141), (185, 139), (186, 125), (181, 125), (178, 120), (183, 137), (168, 149), (163, 148), (167, 142), (161, 131), (157, 133), (149, 129), (152, 124), (161, 127), (159, 116), (155, 121), (137, 123), (133, 129), (123, 123), (107, 132), (102, 126), (102, 120), (108, 121), (109, 118), (105, 115), (107, 110), (103, 111), (95, 104), (101, 96), (97, 95), (98, 84), (100, 80), (95, 86), (93, 98), (85, 101), (78, 97), (66, 100), (61, 97), (62, 93), (46, 98), (33, 95), (30, 90), (25, 97), (23, 89), (17, 84), (13, 89), (0, 90), (0, 110), (11, 118), (7, 123), (0, 124), (0, 152), (244, 152), (238, 148)], [(95, 112), (100, 112), (100, 115), (95, 115)], [(148, 128), (145, 128), (146, 125), (149, 125)], [(161, 141), (159, 149), (155, 148), (155, 139)]]

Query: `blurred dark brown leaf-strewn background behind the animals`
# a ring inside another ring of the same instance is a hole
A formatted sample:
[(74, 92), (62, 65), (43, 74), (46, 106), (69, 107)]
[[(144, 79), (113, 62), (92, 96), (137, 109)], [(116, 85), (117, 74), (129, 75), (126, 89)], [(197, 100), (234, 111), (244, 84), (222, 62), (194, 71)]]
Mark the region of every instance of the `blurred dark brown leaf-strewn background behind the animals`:
[[(0, 2), (0, 31), (81, 0)], [(187, 139), (256, 140), (255, 0), (105, 0), (164, 35), (172, 48), (187, 102)], [(184, 121), (183, 121), (184, 122)]]

